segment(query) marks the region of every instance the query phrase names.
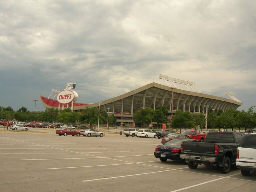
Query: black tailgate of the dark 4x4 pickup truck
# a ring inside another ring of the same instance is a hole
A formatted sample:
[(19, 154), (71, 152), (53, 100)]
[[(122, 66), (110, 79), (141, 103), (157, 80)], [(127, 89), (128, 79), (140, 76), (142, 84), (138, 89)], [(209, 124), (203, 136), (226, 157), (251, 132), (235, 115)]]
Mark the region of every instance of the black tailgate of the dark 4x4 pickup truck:
[(192, 153), (206, 153), (214, 154), (214, 143), (205, 143), (205, 142), (184, 142), (183, 151), (184, 154)]

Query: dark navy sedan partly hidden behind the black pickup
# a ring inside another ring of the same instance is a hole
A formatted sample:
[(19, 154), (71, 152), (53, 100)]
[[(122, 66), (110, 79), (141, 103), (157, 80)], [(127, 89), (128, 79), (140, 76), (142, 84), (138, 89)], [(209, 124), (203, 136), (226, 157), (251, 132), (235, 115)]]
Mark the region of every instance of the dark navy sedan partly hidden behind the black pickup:
[(180, 161), (182, 164), (186, 165), (184, 159), (180, 158), (181, 154), (181, 144), (184, 141), (188, 142), (199, 142), (195, 139), (174, 139), (167, 142), (164, 145), (158, 145), (156, 147), (156, 151), (154, 153), (155, 157), (160, 159), (162, 162), (166, 162), (167, 159), (171, 159), (173, 161)]

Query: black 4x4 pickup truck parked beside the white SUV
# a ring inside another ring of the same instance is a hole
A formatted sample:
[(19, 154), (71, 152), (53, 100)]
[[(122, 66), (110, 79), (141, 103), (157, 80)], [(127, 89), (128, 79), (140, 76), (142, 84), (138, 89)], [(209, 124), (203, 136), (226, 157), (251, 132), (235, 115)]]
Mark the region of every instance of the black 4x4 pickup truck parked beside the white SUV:
[(229, 173), (231, 164), (236, 163), (237, 147), (244, 134), (239, 132), (211, 131), (205, 142), (183, 142), (180, 158), (185, 159), (190, 169), (198, 164), (216, 166), (222, 173)]

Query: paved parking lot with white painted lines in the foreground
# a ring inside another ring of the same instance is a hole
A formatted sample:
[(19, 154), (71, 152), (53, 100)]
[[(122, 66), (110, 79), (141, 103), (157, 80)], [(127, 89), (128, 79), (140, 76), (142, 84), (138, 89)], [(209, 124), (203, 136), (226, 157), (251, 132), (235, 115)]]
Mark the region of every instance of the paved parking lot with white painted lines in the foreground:
[(0, 191), (255, 191), (256, 175), (154, 157), (157, 138), (0, 132)]

